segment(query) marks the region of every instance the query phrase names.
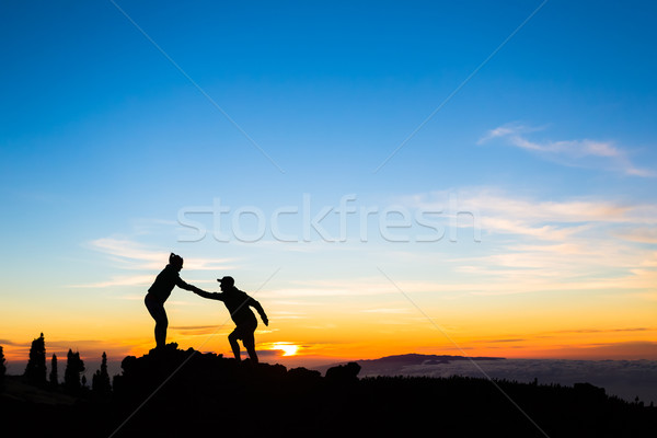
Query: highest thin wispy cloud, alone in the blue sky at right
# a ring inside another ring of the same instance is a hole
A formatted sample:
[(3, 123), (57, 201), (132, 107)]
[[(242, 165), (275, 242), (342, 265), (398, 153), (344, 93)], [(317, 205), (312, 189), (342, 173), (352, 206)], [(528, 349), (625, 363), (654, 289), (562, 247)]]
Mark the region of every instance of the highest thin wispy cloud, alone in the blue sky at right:
[(516, 148), (532, 151), (540, 157), (564, 165), (600, 169), (621, 172), (633, 176), (656, 176), (653, 170), (641, 169), (630, 160), (627, 151), (612, 141), (591, 139), (574, 140), (532, 140), (531, 132), (542, 128), (527, 127), (520, 124), (507, 124), (491, 129), (479, 145), (502, 140)]

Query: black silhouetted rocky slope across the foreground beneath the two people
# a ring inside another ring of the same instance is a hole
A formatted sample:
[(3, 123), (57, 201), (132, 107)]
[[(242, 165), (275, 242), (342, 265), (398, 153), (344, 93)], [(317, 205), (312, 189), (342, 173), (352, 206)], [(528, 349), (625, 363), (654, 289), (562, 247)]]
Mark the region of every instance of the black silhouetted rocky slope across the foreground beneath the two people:
[(88, 393), (74, 404), (54, 404), (5, 393), (0, 428), (62, 437), (653, 437), (657, 430), (657, 410), (588, 384), (357, 379), (356, 365), (322, 377), (173, 348), (126, 357), (122, 367), (105, 397)]

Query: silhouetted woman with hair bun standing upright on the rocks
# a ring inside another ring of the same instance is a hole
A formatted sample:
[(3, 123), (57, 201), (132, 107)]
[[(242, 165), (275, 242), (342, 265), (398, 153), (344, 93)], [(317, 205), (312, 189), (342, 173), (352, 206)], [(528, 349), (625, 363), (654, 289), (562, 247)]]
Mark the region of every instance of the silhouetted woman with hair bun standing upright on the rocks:
[(164, 301), (171, 295), (175, 286), (185, 290), (200, 290), (196, 286), (187, 285), (180, 276), (183, 268), (183, 257), (171, 253), (169, 256), (169, 265), (155, 278), (153, 285), (148, 289), (148, 293), (143, 299), (153, 320), (155, 320), (155, 348), (162, 348), (166, 345), (166, 327), (169, 320), (166, 311), (164, 311)]

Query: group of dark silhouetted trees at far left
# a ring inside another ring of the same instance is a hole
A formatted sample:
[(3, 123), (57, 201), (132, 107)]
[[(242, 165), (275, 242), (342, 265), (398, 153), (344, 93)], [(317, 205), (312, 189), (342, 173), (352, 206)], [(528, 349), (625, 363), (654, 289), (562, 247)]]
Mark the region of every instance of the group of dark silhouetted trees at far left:
[[(0, 346), (0, 383), (7, 373), (4, 365), (4, 354)], [(59, 366), (57, 355), (53, 354), (50, 358), (50, 374), (46, 379), (46, 341), (42, 333), (36, 339), (32, 341), (30, 347), (30, 357), (22, 379), (25, 383), (38, 388), (62, 390), (64, 392), (77, 395), (82, 391), (89, 390), (84, 372), (84, 361), (80, 358), (80, 353), (73, 353), (69, 348), (66, 357), (66, 368), (64, 370), (64, 381), (59, 381)], [(107, 355), (103, 351), (101, 368), (95, 371), (91, 381), (91, 391), (95, 394), (107, 395), (112, 391), (110, 374), (107, 373)]]

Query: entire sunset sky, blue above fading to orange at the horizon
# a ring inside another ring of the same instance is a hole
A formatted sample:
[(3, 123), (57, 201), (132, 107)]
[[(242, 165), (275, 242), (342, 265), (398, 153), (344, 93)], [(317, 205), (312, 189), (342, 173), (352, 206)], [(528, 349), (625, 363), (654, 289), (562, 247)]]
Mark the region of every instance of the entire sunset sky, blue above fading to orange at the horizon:
[(311, 3), (0, 4), (10, 366), (147, 353), (170, 252), (268, 361), (657, 359), (657, 5)]

